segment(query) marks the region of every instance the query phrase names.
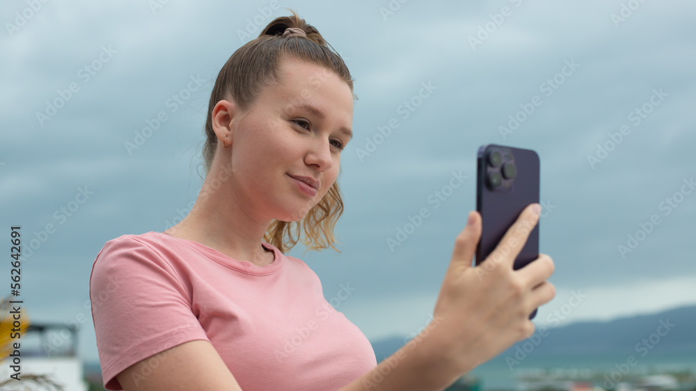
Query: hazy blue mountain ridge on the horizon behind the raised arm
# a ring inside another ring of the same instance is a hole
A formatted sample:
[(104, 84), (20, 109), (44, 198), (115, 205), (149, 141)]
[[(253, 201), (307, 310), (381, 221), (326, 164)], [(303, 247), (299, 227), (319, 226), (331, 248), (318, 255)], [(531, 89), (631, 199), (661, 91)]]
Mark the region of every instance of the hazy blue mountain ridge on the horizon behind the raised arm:
[[(500, 353), (499, 357), (514, 354), (516, 347), (523, 348), (525, 342), (536, 342), (534, 354), (537, 357), (602, 353), (640, 355), (646, 350), (651, 353), (696, 353), (696, 306), (623, 317), (608, 322), (577, 322), (546, 328), (544, 337), (541, 337), (541, 332), (544, 332), (543, 329), (537, 327), (537, 336), (533, 340), (517, 342)], [(404, 337), (395, 335), (370, 341), (377, 362), (400, 349), (404, 345)]]

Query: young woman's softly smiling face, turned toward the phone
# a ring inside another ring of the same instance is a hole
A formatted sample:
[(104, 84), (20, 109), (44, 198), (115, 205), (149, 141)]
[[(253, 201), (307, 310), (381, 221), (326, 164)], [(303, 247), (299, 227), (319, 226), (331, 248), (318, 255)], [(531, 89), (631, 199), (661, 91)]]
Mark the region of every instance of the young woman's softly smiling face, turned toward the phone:
[[(277, 83), (232, 119), (235, 197), (260, 221), (302, 219), (336, 181), (352, 123), (345, 81), (319, 65), (281, 58)], [(315, 180), (316, 190), (293, 178), (301, 176)]]

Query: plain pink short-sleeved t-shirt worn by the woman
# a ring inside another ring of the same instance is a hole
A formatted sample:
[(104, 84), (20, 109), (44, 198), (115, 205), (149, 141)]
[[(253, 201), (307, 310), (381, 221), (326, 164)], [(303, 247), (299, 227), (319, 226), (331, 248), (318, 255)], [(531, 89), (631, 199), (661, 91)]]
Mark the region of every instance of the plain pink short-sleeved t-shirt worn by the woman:
[[(104, 388), (122, 390), (123, 369), (192, 340), (209, 341), (244, 391), (338, 390), (377, 366), (317, 274), (263, 246), (275, 260), (258, 267), (154, 231), (106, 242), (90, 275)], [(354, 290), (339, 289), (340, 301)]]

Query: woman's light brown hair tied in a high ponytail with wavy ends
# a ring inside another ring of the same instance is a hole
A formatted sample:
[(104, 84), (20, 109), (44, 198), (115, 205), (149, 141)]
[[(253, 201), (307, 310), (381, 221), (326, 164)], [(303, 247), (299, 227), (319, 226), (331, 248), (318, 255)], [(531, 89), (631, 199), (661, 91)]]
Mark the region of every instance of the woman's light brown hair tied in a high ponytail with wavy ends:
[[(278, 65), (283, 56), (329, 69), (347, 83), (354, 99), (358, 99), (353, 92), (354, 79), (341, 56), (329, 50), (331, 45), (322, 38), (314, 26), (307, 24), (294, 10), (290, 12), (292, 16), (274, 19), (262, 30), (258, 38), (232, 53), (220, 70), (210, 95), (205, 121), (203, 160), (206, 174), (209, 172), (217, 146), (217, 137), (212, 127), (212, 111), (216, 103), (226, 99), (229, 94), (240, 110), (245, 111), (253, 106), (262, 89), (269, 83), (278, 81)], [(299, 35), (284, 38), (282, 35), (288, 27), (300, 28), (306, 33), (306, 38)], [(333, 227), (342, 213), (343, 200), (337, 180), (301, 222), (274, 220), (264, 235), (264, 240), (285, 253), (294, 247), (299, 240), (300, 229), (304, 228), (306, 238), (302, 243), (308, 250), (326, 249), (331, 246), (338, 251), (333, 246), (333, 242), (338, 242), (334, 238)]]

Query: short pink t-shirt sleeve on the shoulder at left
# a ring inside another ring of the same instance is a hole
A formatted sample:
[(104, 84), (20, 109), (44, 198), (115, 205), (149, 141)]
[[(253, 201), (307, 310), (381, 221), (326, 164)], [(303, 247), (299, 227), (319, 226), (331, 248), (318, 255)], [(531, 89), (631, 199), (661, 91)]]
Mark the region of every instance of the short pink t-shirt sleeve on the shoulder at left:
[(90, 275), (90, 301), (106, 390), (123, 390), (116, 375), (144, 358), (184, 342), (209, 341), (182, 277), (136, 238), (104, 244)]

